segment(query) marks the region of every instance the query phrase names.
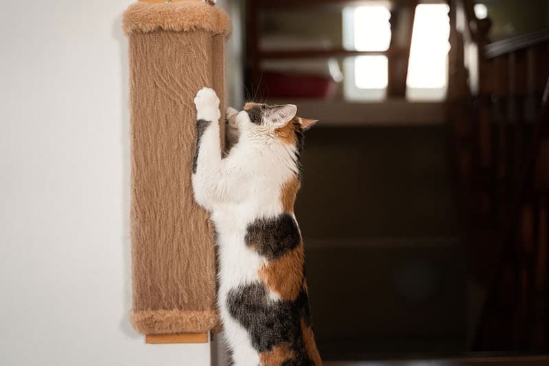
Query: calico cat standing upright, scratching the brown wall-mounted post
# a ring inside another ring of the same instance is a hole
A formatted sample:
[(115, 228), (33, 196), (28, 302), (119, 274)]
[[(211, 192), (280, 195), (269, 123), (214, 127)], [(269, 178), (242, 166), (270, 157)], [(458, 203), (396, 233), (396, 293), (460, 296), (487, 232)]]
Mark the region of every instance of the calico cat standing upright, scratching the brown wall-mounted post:
[(296, 117), (291, 104), (228, 108), (223, 154), (217, 95), (202, 88), (194, 103), (192, 186), (215, 227), (218, 308), (233, 365), (320, 366), (294, 216), (303, 132), (317, 121)]

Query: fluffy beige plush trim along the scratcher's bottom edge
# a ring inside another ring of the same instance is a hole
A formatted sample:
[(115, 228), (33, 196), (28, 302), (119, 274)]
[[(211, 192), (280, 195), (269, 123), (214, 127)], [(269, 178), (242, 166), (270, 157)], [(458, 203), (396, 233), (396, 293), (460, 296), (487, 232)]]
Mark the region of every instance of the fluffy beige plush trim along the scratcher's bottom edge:
[(177, 334), (207, 332), (219, 324), (213, 310), (141, 310), (130, 314), (132, 325), (143, 334)]

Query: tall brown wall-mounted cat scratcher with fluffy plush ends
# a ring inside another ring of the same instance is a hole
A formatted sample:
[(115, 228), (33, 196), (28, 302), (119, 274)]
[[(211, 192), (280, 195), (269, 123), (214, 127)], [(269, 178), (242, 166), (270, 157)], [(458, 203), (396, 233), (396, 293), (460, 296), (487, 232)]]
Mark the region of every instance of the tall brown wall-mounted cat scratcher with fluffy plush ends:
[(143, 0), (126, 10), (123, 23), (132, 114), (132, 324), (150, 343), (197, 341), (196, 334), (171, 341), (152, 334), (207, 332), (218, 324), (213, 234), (191, 188), (193, 100), (209, 86), (224, 104), (231, 23), (198, 0)]

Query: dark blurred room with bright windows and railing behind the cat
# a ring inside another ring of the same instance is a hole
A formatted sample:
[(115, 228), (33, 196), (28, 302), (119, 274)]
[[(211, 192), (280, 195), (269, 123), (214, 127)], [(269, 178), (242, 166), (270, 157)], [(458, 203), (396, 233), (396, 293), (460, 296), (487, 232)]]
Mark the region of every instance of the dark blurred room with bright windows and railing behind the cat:
[(320, 119), (296, 215), (323, 357), (549, 352), (549, 3), (240, 10), (244, 99)]

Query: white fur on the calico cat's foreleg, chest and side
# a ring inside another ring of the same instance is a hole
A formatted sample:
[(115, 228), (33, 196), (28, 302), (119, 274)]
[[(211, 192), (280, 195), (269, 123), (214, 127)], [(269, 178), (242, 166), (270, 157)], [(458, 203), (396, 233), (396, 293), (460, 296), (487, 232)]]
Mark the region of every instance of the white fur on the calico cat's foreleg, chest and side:
[[(259, 354), (253, 349), (248, 332), (229, 315), (226, 298), (235, 287), (259, 282), (257, 273), (266, 259), (246, 245), (246, 228), (258, 217), (283, 212), (281, 186), (292, 177), (296, 151), (276, 138), (269, 127), (253, 125), (245, 111), (229, 110), (240, 138), (229, 156), (222, 159), (219, 99), (213, 90), (203, 88), (195, 103), (197, 118), (212, 121), (200, 141), (192, 183), (196, 202), (211, 212), (218, 234), (218, 306), (225, 339), (233, 350), (235, 366), (259, 365)], [(279, 300), (275, 293), (271, 293), (271, 298)]]

